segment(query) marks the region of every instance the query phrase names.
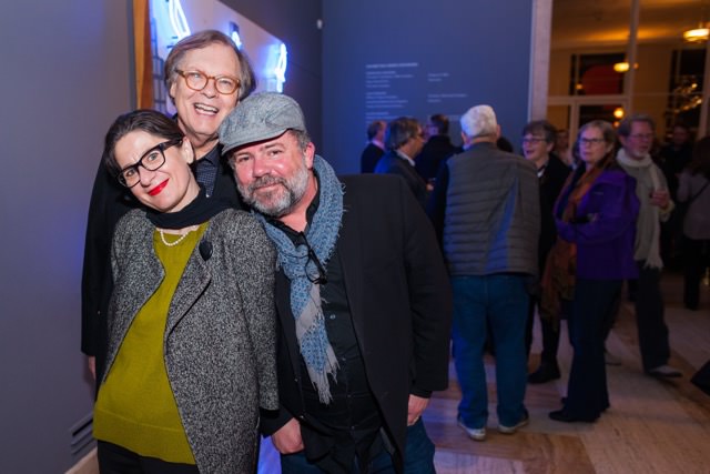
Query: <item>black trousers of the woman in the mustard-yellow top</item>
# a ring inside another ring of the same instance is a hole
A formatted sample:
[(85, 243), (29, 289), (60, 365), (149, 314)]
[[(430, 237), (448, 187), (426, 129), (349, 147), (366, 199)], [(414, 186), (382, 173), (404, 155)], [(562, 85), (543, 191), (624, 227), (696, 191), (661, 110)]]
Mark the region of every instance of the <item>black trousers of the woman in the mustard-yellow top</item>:
[(99, 441), (97, 454), (101, 474), (200, 474), (195, 465), (141, 456), (125, 447), (103, 441)]

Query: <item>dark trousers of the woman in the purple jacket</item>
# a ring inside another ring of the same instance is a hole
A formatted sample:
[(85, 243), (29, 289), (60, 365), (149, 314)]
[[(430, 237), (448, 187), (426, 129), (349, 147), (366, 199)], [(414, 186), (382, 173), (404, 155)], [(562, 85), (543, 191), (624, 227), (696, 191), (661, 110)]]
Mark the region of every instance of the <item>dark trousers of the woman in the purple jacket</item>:
[(621, 294), (621, 280), (577, 279), (569, 319), (572, 365), (565, 411), (595, 421), (609, 407), (604, 341)]

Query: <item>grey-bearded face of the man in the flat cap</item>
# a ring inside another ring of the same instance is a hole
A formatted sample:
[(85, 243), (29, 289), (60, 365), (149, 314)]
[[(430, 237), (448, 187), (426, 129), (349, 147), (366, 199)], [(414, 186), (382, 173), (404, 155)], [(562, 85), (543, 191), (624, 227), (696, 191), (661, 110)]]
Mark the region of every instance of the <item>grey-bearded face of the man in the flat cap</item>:
[(236, 149), (230, 159), (244, 201), (273, 218), (307, 206), (315, 194), (314, 152), (313, 143), (303, 150), (290, 132)]

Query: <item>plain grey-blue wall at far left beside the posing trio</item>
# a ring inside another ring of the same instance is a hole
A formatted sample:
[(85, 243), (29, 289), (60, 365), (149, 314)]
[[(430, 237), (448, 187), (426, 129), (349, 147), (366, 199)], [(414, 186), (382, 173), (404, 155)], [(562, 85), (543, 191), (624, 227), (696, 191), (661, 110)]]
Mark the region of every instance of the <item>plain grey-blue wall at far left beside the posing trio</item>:
[(2, 4), (0, 473), (64, 472), (91, 411), (81, 261), (101, 141), (131, 105), (129, 3)]

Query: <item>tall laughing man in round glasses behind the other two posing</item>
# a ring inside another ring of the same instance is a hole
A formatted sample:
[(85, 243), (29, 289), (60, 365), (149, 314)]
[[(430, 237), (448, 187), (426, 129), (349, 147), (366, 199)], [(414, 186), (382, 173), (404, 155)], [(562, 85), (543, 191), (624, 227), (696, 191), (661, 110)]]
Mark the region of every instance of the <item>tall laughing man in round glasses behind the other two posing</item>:
[[(195, 151), (197, 182), (211, 200), (241, 209), (230, 167), (220, 157), (217, 128), (256, 82), (247, 58), (224, 33), (200, 31), (180, 40), (165, 59), (165, 90), (174, 117)], [(138, 205), (103, 164), (91, 194), (82, 275), (81, 350), (101, 379), (106, 349), (105, 312), (111, 294), (109, 249), (118, 220)]]

